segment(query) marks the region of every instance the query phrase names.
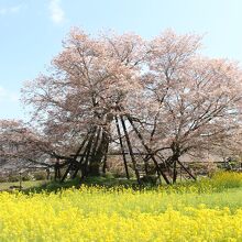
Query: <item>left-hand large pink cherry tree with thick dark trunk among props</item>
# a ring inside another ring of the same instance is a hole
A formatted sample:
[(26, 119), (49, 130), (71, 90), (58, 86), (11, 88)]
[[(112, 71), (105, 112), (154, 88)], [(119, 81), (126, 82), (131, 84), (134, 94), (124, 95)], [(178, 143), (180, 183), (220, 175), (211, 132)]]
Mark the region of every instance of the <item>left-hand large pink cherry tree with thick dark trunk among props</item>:
[[(33, 106), (32, 120), (44, 128), (42, 132), (53, 143), (72, 145), (73, 153), (89, 136), (86, 153), (92, 157), (86, 164), (90, 163), (90, 174), (99, 174), (116, 107), (141, 88), (143, 50), (138, 35), (91, 38), (74, 29), (64, 51), (52, 62), (52, 74), (38, 76), (24, 89), (24, 103)], [(96, 145), (90, 151), (92, 143)]]

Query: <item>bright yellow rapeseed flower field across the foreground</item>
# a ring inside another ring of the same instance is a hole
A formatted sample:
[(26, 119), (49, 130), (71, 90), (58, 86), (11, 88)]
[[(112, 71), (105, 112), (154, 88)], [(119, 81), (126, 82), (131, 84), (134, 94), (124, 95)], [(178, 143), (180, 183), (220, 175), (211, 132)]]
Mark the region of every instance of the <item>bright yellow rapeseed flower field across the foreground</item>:
[(133, 190), (0, 193), (0, 241), (242, 241), (242, 174)]

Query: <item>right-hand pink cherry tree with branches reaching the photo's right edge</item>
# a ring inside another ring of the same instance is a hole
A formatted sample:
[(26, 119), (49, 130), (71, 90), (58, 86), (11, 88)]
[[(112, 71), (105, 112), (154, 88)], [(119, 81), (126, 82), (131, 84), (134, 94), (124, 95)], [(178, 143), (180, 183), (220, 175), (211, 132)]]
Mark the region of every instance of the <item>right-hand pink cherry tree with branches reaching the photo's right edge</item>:
[(144, 77), (152, 107), (150, 142), (174, 170), (185, 154), (233, 152), (242, 144), (241, 69), (237, 63), (199, 56), (198, 47), (198, 36), (173, 32), (151, 42)]

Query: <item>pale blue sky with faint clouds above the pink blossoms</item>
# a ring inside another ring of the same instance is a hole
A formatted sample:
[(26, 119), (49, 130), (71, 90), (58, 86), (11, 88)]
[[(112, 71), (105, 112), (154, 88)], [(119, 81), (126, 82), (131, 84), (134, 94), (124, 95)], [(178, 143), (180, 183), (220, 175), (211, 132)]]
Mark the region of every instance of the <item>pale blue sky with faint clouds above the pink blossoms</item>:
[(45, 72), (72, 26), (205, 34), (202, 54), (242, 62), (241, 24), (241, 0), (0, 0), (0, 119), (24, 118), (23, 82)]

